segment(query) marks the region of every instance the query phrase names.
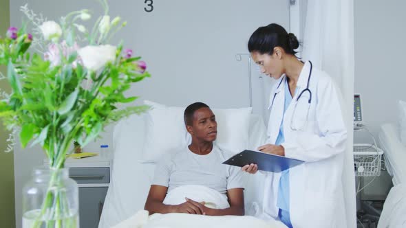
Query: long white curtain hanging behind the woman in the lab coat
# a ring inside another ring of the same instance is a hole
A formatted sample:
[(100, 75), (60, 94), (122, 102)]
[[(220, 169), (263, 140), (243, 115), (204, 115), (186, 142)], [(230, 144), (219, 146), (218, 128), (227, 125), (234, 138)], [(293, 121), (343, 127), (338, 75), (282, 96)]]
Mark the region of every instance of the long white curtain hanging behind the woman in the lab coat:
[(343, 187), (347, 225), (356, 227), (353, 144), (354, 0), (308, 0), (303, 60), (327, 72), (341, 89), (341, 106), (348, 130)]

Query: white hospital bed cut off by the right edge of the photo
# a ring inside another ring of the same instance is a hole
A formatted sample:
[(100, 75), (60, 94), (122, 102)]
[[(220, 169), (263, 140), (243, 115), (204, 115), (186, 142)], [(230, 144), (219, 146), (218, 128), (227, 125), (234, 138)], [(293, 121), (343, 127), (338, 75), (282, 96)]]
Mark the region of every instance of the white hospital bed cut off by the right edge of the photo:
[(378, 140), (394, 183), (383, 205), (378, 227), (406, 227), (406, 146), (401, 143), (394, 124), (383, 124)]

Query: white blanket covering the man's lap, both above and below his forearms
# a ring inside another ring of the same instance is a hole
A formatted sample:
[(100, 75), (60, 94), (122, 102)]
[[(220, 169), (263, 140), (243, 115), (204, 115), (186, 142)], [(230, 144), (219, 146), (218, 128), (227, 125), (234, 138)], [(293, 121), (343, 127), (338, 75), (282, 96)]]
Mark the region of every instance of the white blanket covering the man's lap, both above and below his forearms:
[[(167, 194), (164, 204), (178, 205), (184, 203), (185, 197), (193, 201), (204, 202), (206, 207), (223, 209), (230, 207), (227, 196), (216, 190), (201, 185), (184, 185), (176, 187)], [(202, 216), (196, 214), (153, 214), (140, 210), (131, 218), (122, 221), (114, 228), (189, 228), (189, 227), (230, 227), (230, 228), (279, 228), (286, 227), (283, 223), (270, 220), (265, 221), (253, 216)]]

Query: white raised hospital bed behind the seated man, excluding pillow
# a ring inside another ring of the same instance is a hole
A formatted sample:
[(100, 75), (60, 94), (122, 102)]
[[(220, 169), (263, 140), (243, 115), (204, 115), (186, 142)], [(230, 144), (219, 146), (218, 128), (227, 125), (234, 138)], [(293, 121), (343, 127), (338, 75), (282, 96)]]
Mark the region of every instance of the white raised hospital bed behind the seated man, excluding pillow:
[[(122, 223), (123, 220), (133, 217), (144, 208), (149, 187), (153, 178), (155, 163), (142, 163), (141, 154), (145, 141), (147, 128), (145, 119), (147, 114), (131, 115), (121, 120), (114, 128), (114, 163), (111, 183), (105, 198), (103, 213), (99, 228), (107, 228)], [(266, 128), (258, 115), (250, 115), (249, 120), (249, 148), (257, 148), (266, 140)], [(261, 186), (264, 183), (261, 174), (250, 175), (244, 173), (246, 190), (244, 190), (246, 215), (255, 216), (261, 209), (258, 197), (263, 196)], [(247, 216), (246, 223), (253, 224), (255, 217)], [(206, 216), (211, 217), (211, 216)], [(232, 216), (237, 217), (237, 216)], [(134, 218), (134, 217), (133, 217)], [(202, 217), (193, 219), (203, 219)], [(222, 219), (222, 218), (216, 218)], [(234, 218), (235, 219), (235, 218)], [(242, 218), (233, 221), (243, 225)], [(139, 220), (139, 219), (138, 219)], [(259, 219), (258, 219), (259, 220)], [(257, 221), (258, 222), (258, 221)], [(203, 222), (202, 222), (203, 223)], [(266, 227), (285, 227), (280, 222), (277, 225)], [(131, 227), (131, 226), (129, 226)], [(220, 226), (222, 227), (222, 226)], [(239, 226), (237, 226), (239, 227)]]

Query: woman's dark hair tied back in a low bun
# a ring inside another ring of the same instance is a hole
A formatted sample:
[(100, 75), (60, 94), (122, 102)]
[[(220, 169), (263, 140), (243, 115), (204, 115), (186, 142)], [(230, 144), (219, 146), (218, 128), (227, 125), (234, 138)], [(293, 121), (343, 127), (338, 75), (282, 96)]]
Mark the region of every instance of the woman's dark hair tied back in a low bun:
[(284, 27), (275, 23), (259, 27), (248, 41), (249, 52), (272, 55), (275, 47), (281, 47), (286, 54), (295, 56), (297, 54), (295, 49), (299, 47), (299, 41), (295, 34), (288, 34)]

